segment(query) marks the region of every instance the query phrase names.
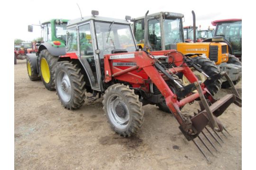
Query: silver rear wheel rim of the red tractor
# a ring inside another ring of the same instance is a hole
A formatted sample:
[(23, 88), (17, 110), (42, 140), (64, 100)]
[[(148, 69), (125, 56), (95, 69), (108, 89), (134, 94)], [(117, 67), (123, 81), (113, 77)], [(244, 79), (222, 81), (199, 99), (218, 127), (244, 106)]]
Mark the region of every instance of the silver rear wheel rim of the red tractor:
[(60, 98), (64, 102), (69, 102), (72, 95), (72, 89), (71, 89), (69, 77), (64, 71), (61, 71), (58, 73), (57, 79), (56, 79), (56, 86), (57, 86), (57, 90), (60, 95)]

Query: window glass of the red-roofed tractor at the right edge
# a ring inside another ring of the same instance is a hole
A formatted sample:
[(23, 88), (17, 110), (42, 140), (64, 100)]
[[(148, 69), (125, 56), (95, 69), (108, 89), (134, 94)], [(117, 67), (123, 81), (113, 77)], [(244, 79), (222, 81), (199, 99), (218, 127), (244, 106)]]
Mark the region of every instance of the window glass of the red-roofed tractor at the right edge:
[(234, 53), (242, 51), (242, 21), (234, 23), (220, 23), (216, 29), (216, 36), (223, 36), (231, 44)]

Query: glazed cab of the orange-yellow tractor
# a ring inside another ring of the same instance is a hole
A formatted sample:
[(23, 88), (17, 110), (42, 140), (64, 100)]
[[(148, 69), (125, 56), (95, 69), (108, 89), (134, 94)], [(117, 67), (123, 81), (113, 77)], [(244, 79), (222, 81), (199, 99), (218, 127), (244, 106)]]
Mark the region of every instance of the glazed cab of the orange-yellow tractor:
[[(158, 12), (147, 16), (147, 35), (150, 51), (175, 49), (176, 43), (184, 42), (183, 14), (174, 12)], [(145, 17), (134, 20), (134, 34), (139, 47), (144, 47)]]

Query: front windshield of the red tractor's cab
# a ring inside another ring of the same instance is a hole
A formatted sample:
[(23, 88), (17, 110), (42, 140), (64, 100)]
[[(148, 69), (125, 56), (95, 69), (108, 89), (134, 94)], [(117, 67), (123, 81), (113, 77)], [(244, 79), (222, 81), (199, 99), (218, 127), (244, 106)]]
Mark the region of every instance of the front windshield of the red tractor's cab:
[[(110, 27), (110, 25), (112, 26)], [(111, 54), (112, 50), (136, 51), (136, 45), (129, 25), (118, 23), (95, 22), (100, 58)]]

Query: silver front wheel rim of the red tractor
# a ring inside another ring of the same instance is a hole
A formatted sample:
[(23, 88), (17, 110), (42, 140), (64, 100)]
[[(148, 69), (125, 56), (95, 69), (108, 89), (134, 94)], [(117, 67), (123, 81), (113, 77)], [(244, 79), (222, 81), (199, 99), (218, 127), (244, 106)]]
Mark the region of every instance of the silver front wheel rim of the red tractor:
[(108, 116), (112, 124), (119, 129), (124, 129), (130, 121), (130, 114), (126, 103), (117, 94), (112, 94), (107, 101)]

